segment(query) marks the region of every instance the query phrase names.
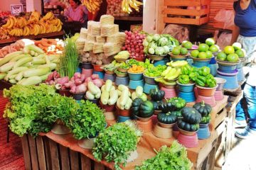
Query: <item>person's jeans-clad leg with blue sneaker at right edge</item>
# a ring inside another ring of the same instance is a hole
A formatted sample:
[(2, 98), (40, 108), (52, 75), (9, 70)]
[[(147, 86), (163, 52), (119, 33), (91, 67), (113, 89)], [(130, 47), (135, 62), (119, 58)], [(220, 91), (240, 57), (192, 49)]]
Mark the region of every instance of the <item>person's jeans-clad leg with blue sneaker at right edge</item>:
[(250, 125), (245, 129), (236, 130), (235, 135), (242, 139), (247, 137), (256, 137), (256, 88), (245, 84), (244, 96), (247, 101), (248, 114), (250, 117)]

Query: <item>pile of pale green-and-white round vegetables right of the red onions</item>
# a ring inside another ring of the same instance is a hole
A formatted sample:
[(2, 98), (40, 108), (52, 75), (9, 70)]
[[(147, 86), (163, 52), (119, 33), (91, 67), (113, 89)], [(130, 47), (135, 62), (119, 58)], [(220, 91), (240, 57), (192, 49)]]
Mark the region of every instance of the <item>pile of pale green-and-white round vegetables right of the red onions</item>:
[(154, 34), (147, 35), (143, 45), (146, 55), (167, 55), (179, 43), (169, 34)]

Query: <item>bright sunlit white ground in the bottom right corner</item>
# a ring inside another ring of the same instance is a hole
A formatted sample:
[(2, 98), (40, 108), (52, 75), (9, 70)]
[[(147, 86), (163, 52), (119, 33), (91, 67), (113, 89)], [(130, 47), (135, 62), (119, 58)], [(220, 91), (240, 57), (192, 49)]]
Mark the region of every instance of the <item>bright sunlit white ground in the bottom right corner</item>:
[(235, 137), (235, 147), (228, 154), (223, 170), (255, 170), (255, 140), (240, 140)]

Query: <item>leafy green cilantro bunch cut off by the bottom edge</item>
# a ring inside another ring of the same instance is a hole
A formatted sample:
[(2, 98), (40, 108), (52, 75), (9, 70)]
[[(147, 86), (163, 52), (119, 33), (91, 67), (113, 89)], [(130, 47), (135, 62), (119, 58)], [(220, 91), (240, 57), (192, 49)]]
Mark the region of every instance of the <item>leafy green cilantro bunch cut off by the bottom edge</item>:
[(176, 140), (171, 147), (164, 145), (155, 157), (147, 159), (136, 170), (190, 170), (193, 164), (187, 157), (186, 148)]

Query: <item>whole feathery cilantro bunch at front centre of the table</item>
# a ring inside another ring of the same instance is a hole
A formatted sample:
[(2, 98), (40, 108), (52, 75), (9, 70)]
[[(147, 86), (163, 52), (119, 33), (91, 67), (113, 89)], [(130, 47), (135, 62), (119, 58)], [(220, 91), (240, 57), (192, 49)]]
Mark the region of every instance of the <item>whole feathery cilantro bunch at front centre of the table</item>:
[(96, 138), (92, 154), (99, 161), (114, 162), (114, 169), (120, 170), (119, 164), (125, 166), (129, 154), (137, 149), (140, 136), (142, 132), (131, 121), (114, 124)]

